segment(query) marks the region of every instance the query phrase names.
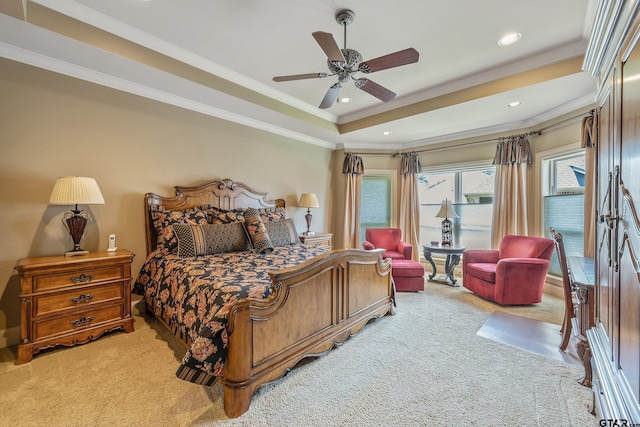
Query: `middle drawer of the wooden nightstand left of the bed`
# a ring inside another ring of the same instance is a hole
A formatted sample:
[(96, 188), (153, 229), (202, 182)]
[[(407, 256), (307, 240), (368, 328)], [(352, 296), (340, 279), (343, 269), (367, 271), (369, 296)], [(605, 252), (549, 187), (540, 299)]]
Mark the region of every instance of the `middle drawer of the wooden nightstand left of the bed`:
[(70, 308), (88, 307), (97, 303), (124, 298), (122, 282), (85, 287), (33, 298), (33, 315), (40, 316)]

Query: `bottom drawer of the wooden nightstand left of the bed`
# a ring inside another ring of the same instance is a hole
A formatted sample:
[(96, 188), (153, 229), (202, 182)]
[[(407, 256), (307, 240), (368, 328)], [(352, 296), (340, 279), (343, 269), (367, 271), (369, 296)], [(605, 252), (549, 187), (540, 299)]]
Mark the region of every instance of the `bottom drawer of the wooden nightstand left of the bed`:
[(41, 340), (55, 335), (65, 335), (103, 322), (122, 319), (122, 304), (114, 304), (103, 308), (77, 311), (67, 316), (34, 322), (34, 340)]

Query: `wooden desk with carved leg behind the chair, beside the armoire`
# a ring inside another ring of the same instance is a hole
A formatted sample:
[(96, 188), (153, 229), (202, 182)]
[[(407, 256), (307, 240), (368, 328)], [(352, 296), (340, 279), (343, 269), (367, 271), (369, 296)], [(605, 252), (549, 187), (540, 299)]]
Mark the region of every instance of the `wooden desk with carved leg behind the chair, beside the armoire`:
[(576, 350), (584, 366), (584, 377), (578, 382), (585, 387), (591, 387), (591, 347), (586, 332), (595, 326), (595, 261), (593, 258), (569, 256), (567, 264), (577, 300), (573, 333), (578, 339)]

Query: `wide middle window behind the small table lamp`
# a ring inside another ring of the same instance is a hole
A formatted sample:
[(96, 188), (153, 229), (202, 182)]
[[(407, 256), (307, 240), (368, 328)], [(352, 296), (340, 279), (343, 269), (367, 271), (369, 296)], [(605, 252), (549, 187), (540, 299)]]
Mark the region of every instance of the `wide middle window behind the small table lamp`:
[(420, 244), (442, 239), (442, 218), (436, 218), (445, 199), (451, 200), (458, 218), (453, 222), (456, 245), (491, 248), (491, 219), (495, 166), (489, 163), (453, 165), (418, 175)]

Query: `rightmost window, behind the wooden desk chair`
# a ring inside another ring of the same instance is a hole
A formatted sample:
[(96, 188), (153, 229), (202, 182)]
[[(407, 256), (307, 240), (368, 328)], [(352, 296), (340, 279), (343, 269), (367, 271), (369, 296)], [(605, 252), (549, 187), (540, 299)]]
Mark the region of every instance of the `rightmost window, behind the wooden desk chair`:
[[(584, 253), (584, 151), (546, 157), (542, 161), (544, 230), (562, 233), (567, 256)], [(561, 275), (557, 254), (549, 272)]]

